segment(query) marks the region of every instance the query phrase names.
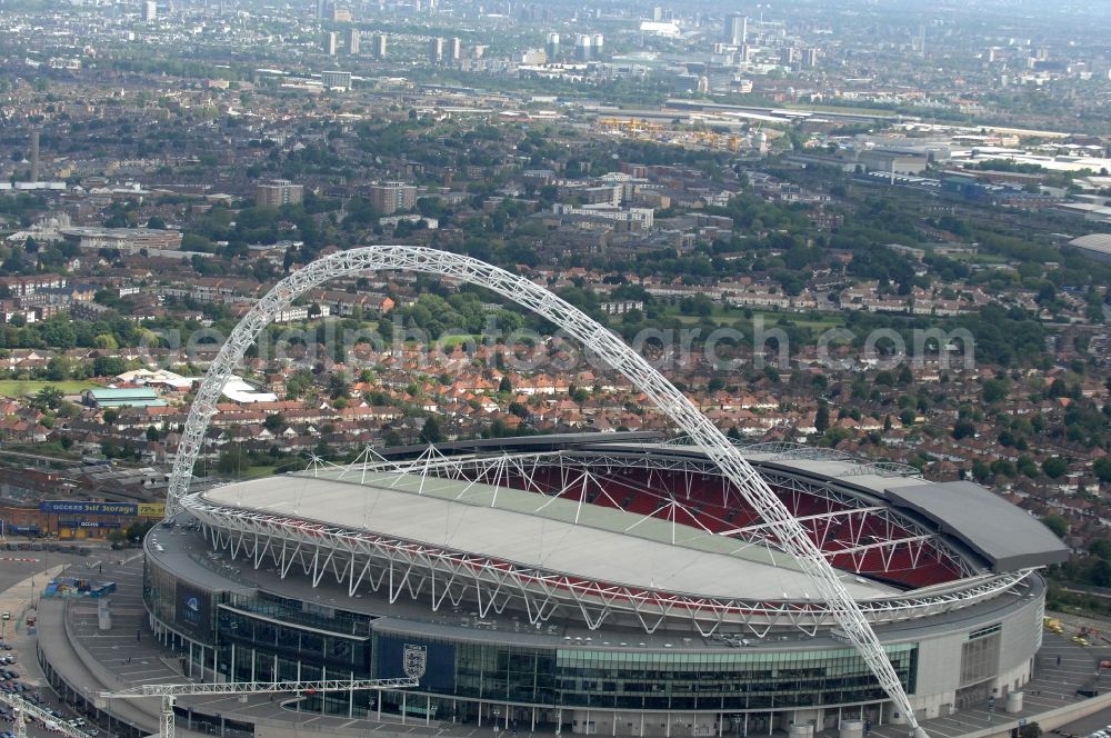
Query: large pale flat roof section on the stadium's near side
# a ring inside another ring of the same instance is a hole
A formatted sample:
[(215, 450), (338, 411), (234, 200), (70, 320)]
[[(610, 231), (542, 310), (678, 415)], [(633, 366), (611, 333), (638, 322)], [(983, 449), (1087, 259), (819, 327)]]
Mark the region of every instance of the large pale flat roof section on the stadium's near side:
[[(669, 520), (506, 487), (373, 472), (340, 480), (343, 473), (352, 472), (260, 479), (202, 497), (599, 582), (720, 598), (819, 597), (789, 555)], [(898, 591), (852, 574), (841, 579), (857, 599)]]

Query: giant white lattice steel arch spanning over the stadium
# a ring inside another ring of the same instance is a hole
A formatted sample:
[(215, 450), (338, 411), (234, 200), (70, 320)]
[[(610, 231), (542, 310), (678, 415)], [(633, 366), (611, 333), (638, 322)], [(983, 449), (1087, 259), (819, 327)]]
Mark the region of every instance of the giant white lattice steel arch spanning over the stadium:
[(167, 516), (181, 509), (193, 463), (209, 420), (224, 383), (242, 360), (248, 347), (274, 317), (307, 291), (338, 277), (364, 271), (418, 271), (484, 287), (503, 298), (532, 310), (565, 330), (604, 359), (665, 412), (690, 439), (705, 449), (760, 516), (775, 532), (785, 551), (799, 560), (822, 600), (837, 618), (845, 636), (860, 651), (883, 688), (905, 716), (911, 729), (924, 737), (899, 676), (883, 652), (879, 638), (822, 556), (802, 525), (772, 492), (760, 475), (744, 460), (738, 448), (702, 415), (682, 392), (621, 339), (584, 312), (544, 288), (470, 257), (414, 246), (369, 246), (341, 251), (306, 266), (281, 280), (266, 293), (236, 326), (209, 367), (193, 400), (186, 429), (173, 460), (167, 495)]

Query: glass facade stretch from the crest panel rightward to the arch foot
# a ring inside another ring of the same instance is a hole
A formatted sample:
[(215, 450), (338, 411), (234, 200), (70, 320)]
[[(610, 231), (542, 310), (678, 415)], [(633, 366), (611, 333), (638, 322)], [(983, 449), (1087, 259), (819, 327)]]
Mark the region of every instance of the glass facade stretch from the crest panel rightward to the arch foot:
[[(885, 699), (851, 648), (705, 654), (532, 649), (376, 635), (378, 677), (403, 676), (399, 655), (423, 648), (420, 691), (494, 701), (599, 709), (744, 710)], [(913, 691), (918, 649), (888, 647)]]

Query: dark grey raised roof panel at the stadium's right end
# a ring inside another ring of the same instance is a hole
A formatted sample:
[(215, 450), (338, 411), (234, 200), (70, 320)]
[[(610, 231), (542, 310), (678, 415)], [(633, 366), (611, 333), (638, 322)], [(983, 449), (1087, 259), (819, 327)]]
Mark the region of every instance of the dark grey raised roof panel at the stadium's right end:
[(1060, 564), (1069, 549), (1028, 512), (968, 481), (893, 487), (895, 507), (919, 512), (974, 551), (995, 571)]

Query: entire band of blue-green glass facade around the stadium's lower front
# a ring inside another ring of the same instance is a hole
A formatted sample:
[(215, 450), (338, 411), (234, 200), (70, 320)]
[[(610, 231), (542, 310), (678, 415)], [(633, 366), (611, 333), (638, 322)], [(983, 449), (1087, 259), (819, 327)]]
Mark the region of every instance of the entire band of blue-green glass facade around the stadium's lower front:
[[(309, 607), (273, 595), (207, 594), (149, 567), (144, 596), (160, 620), (198, 642), (217, 648), (217, 669), (237, 680), (387, 678), (404, 674), (406, 655), (422, 651), (424, 674), (403, 709), (429, 709), (429, 697), (516, 704), (538, 708), (608, 710), (742, 711), (791, 709), (885, 700), (863, 659), (852, 648), (762, 648), (723, 651), (643, 651), (553, 645), (526, 646), (451, 636), (394, 635), (373, 629), (374, 618), (334, 608)], [(998, 631), (969, 641), (963, 676), (979, 672), (994, 654)], [(975, 645), (973, 647), (973, 644)], [(982, 645), (982, 646), (981, 646)], [(972, 647), (972, 648), (969, 648)], [(199, 651), (199, 649), (197, 649)], [(903, 686), (914, 692), (918, 647), (888, 647)], [(233, 655), (234, 651), (234, 655)], [(975, 654), (972, 654), (975, 651)], [(973, 666), (975, 665), (975, 666)], [(338, 694), (318, 709), (363, 715), (377, 697)], [(402, 709), (400, 695), (382, 695), (383, 710)], [(420, 706), (417, 705), (420, 702)], [(311, 709), (308, 704), (302, 709)], [(447, 708), (444, 708), (447, 709)], [(452, 708), (461, 719), (473, 706)]]

